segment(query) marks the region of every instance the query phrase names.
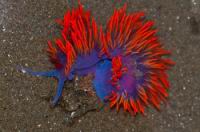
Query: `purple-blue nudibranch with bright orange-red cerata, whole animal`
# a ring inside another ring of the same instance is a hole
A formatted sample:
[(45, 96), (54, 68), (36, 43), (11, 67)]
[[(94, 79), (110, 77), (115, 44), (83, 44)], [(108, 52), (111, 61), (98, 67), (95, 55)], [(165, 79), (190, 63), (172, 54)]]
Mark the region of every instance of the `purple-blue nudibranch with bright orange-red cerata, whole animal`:
[(170, 52), (163, 49), (154, 22), (145, 20), (143, 12), (127, 14), (126, 4), (115, 9), (104, 32), (79, 3), (57, 23), (62, 26), (61, 37), (54, 45), (49, 41), (47, 49), (55, 69), (33, 72), (22, 68), (32, 75), (58, 79), (53, 106), (66, 80), (88, 74), (94, 75), (94, 90), (100, 100), (117, 111), (124, 108), (131, 114), (144, 114), (145, 106), (159, 109), (166, 101), (166, 70), (174, 62), (162, 58)]

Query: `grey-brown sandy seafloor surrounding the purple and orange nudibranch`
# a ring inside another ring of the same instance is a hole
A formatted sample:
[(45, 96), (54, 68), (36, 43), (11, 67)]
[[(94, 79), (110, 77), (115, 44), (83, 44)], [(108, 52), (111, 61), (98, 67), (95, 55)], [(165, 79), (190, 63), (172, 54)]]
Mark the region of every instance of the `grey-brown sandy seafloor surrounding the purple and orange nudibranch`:
[[(113, 0), (82, 3), (105, 27)], [(69, 0), (0, 0), (0, 132), (200, 132), (200, 0), (128, 1), (128, 12), (145, 11), (155, 20), (176, 62), (168, 72), (168, 105), (160, 112), (147, 108), (145, 117), (94, 111), (96, 96), (83, 92), (92, 89), (90, 77), (66, 82), (63, 100), (51, 108), (56, 81), (16, 71), (17, 65), (52, 68), (46, 42), (59, 34), (54, 20), (73, 5)], [(88, 107), (92, 110), (84, 112)]]

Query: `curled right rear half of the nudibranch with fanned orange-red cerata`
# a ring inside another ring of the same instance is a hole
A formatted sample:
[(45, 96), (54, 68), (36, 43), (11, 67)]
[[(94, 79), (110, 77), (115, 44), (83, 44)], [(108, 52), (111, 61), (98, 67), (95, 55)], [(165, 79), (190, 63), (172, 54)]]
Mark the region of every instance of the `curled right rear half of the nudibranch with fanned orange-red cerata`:
[(111, 69), (100, 65), (94, 80), (101, 100), (109, 102), (110, 108), (119, 111), (122, 107), (133, 115), (144, 114), (149, 104), (160, 109), (160, 103), (168, 97), (165, 72), (174, 65), (162, 58), (170, 52), (160, 44), (154, 22), (144, 20), (144, 16), (143, 12), (127, 14), (126, 4), (114, 11), (106, 33), (100, 31), (101, 55), (111, 58), (107, 62)]

